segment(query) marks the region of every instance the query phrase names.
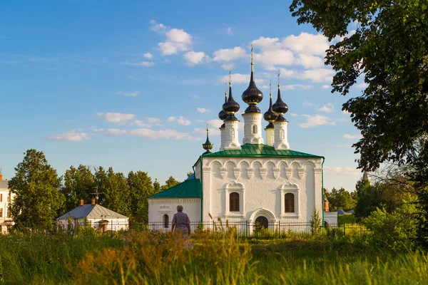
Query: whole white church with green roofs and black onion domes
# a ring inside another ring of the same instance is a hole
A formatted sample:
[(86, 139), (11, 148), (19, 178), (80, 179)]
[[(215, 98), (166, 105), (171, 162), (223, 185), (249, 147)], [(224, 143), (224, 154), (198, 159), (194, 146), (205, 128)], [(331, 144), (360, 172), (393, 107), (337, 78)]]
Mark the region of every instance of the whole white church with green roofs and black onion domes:
[[(227, 98), (228, 95), (228, 98)], [(328, 224), (337, 224), (337, 213), (324, 212), (321, 155), (310, 155), (290, 149), (287, 139), (288, 106), (282, 101), (279, 75), (277, 100), (264, 115), (258, 108), (263, 93), (255, 86), (253, 59), (250, 85), (242, 95), (248, 108), (243, 113), (244, 138), (238, 138), (239, 120), (235, 114), (240, 105), (234, 100), (232, 84), (226, 93), (218, 117), (220, 150), (206, 150), (193, 165), (194, 174), (185, 182), (148, 198), (148, 220), (170, 228), (178, 204), (183, 205), (190, 221), (198, 224), (221, 219), (223, 222), (259, 222), (264, 227), (277, 222), (308, 222), (313, 209)], [(267, 121), (263, 138), (263, 118)]]

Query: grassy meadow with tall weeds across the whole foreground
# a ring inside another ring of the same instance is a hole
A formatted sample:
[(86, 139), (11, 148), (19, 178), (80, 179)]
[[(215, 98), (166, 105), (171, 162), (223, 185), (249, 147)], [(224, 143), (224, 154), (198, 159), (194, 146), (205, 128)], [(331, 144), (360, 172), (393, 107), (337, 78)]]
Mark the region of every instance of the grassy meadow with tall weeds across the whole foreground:
[(426, 284), (428, 255), (365, 236), (193, 234), (0, 236), (1, 284)]

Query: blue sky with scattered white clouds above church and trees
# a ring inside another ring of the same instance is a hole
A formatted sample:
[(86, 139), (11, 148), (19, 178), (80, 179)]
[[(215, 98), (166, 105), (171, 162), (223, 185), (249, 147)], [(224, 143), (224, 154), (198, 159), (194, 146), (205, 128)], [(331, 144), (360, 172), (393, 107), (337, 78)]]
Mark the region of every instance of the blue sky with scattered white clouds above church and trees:
[(161, 183), (170, 175), (184, 180), (203, 152), (206, 121), (218, 150), (229, 68), (245, 110), (240, 95), (253, 43), (260, 109), (267, 110), (270, 80), (276, 98), (279, 68), (292, 150), (326, 157), (325, 187), (354, 190), (361, 172), (351, 145), (360, 133), (341, 106), (363, 85), (346, 97), (330, 93), (334, 72), (322, 60), (330, 43), (298, 26), (289, 4), (1, 1), (4, 177), (36, 148), (59, 175), (84, 164), (143, 170)]

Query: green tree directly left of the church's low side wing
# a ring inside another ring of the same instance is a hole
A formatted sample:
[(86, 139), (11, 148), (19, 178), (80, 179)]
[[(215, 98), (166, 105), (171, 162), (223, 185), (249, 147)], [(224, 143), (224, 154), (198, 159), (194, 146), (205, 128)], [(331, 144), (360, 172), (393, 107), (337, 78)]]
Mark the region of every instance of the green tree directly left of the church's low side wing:
[(129, 172), (128, 186), (131, 198), (131, 213), (136, 222), (148, 222), (147, 198), (155, 193), (151, 177), (147, 172)]

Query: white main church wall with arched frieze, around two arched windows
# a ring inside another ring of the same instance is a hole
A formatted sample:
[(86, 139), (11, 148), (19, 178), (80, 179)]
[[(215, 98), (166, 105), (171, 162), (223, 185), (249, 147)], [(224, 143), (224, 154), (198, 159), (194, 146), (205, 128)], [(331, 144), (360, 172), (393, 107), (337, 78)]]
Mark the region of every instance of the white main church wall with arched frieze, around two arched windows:
[[(263, 214), (270, 221), (307, 222), (314, 207), (321, 214), (321, 187), (321, 158), (204, 157), (203, 220), (211, 214), (214, 219), (254, 221)], [(230, 189), (240, 193), (239, 213), (228, 212)], [(296, 213), (284, 211), (287, 192), (296, 196)]]

